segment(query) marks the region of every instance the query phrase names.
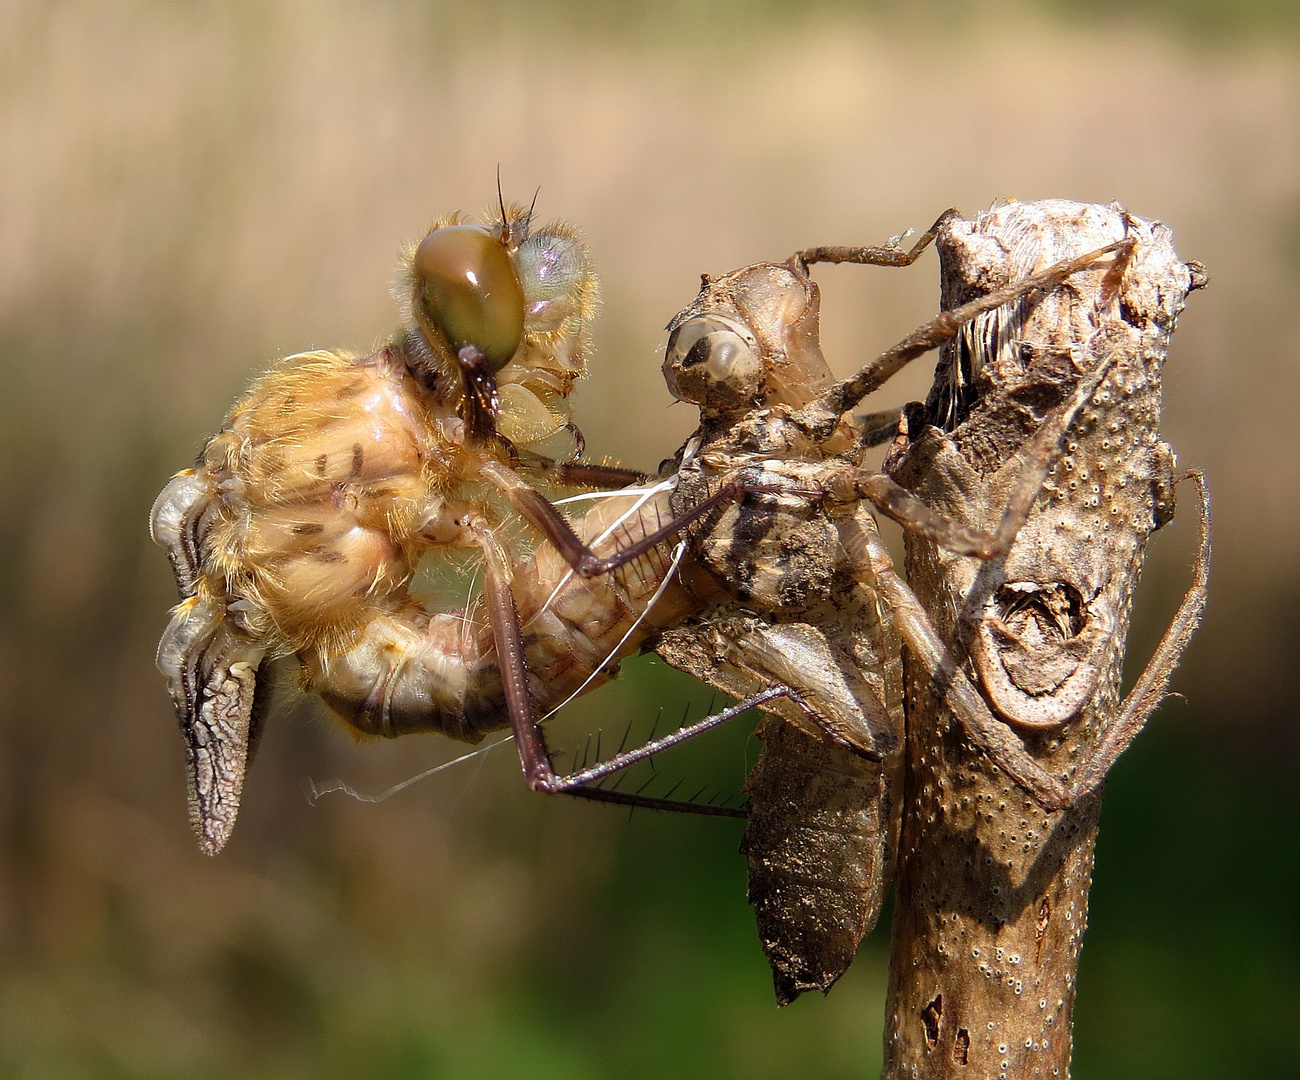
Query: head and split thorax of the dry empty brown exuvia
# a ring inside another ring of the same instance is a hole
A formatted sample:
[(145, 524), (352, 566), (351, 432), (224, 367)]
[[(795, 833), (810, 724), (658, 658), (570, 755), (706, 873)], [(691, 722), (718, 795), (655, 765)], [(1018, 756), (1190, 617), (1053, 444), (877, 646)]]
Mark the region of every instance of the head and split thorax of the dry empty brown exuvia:
[(836, 519), (859, 498), (837, 480), (855, 473), (862, 441), (844, 420), (828, 438), (801, 424), (801, 411), (835, 383), (819, 305), (797, 260), (706, 277), (670, 324), (663, 364), (672, 394), (701, 411), (696, 437), (671, 465), (672, 507), (698, 506), (722, 483), (751, 485), (689, 535), (698, 564), (733, 600), (775, 619), (801, 617), (854, 589), (836, 559)]

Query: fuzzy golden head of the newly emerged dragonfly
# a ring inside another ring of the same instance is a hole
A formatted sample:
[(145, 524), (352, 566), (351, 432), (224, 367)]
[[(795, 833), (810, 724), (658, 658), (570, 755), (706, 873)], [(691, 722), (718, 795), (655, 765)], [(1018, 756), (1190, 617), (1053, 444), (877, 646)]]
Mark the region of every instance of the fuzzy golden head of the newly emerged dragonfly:
[(404, 256), (412, 374), (465, 420), (472, 438), (537, 443), (569, 424), (568, 395), (586, 373), (599, 287), (586, 247), (564, 222), (530, 231), (504, 207), (486, 225), (443, 218)]

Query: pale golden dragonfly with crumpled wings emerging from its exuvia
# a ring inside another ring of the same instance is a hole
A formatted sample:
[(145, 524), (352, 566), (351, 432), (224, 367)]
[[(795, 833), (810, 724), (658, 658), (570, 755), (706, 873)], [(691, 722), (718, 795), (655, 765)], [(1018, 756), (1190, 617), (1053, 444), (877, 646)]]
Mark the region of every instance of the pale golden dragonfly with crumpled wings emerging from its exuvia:
[[(581, 451), (567, 398), (586, 368), (597, 282), (577, 233), (534, 230), (530, 209), (502, 203), (486, 225), (439, 221), (404, 260), (406, 318), (387, 344), (280, 363), (153, 507), (182, 597), (157, 660), (208, 853), (229, 838), (268, 699), (292, 668), (358, 733), (477, 739), (503, 726), (519, 690), (495, 663), (519, 645), (516, 607), (540, 626), (530, 659), (545, 704), (698, 606), (654, 551), (599, 584), (533, 561), (519, 604), (510, 593), (521, 554), (508, 526), (521, 516), (545, 535), (558, 516), (534, 481), (638, 476), (532, 451), (566, 429)], [(636, 496), (594, 511), (584, 535), (595, 542), (627, 506)], [(420, 559), (454, 548), (481, 552), (486, 611), (412, 599)], [(629, 632), (651, 595), (655, 619)]]

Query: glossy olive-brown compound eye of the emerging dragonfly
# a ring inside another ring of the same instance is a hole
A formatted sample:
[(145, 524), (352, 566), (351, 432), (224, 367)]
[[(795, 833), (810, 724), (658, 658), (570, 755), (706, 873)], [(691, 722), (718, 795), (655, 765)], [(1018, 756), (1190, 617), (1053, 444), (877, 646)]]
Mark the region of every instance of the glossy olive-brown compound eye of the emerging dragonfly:
[(477, 225), (434, 229), (415, 252), (416, 303), (452, 352), (478, 348), (500, 370), (524, 338), (524, 290), (500, 242)]

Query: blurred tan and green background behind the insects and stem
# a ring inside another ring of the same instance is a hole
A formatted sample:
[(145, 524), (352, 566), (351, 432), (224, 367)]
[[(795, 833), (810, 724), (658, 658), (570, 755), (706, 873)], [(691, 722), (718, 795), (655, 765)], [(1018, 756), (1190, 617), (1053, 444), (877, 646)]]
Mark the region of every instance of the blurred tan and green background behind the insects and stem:
[[(226, 853), (190, 836), (150, 503), (270, 360), (389, 333), (399, 244), (478, 211), (498, 166), (586, 233), (577, 417), (641, 467), (692, 426), (659, 360), (703, 270), (1005, 196), (1118, 199), (1208, 264), (1166, 431), (1210, 476), (1212, 604), (1186, 701), (1108, 794), (1076, 1070), (1300, 1072), (1295, 9), (0, 0), (0, 1077), (879, 1067), (885, 934), (779, 1014), (733, 824), (532, 797), (510, 750), (312, 804), (458, 747), (355, 746), (307, 708), (268, 732)], [(937, 298), (932, 256), (818, 278), (842, 372)], [(878, 407), (923, 396), (916, 366)], [(1157, 538), (1136, 655), (1193, 532)], [(663, 702), (708, 707), (641, 662), (572, 723)], [(754, 746), (680, 756), (737, 791)]]

